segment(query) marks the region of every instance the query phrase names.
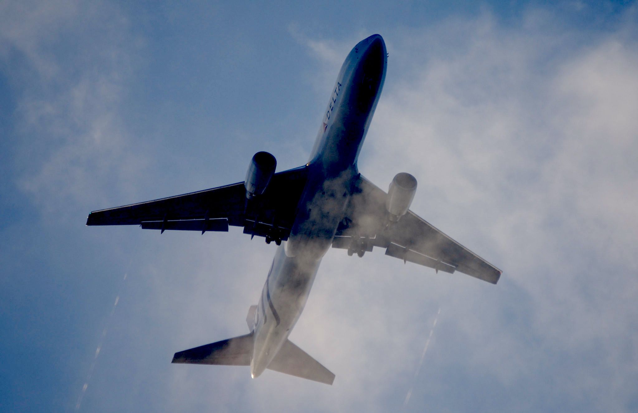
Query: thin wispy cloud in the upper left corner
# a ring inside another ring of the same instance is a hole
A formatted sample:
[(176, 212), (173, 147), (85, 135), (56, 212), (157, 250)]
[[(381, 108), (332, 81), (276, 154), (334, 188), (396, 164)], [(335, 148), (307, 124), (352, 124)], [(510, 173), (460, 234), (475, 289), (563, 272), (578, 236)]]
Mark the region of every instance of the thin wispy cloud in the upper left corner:
[[(95, 206), (103, 193), (98, 182), (126, 188), (127, 177), (145, 166), (143, 155), (127, 149), (121, 123), (133, 34), (105, 3), (5, 2), (2, 8), (0, 56), (17, 92), (19, 185), (48, 214), (66, 219), (71, 211), (61, 206)], [(21, 64), (14, 68), (12, 61)]]

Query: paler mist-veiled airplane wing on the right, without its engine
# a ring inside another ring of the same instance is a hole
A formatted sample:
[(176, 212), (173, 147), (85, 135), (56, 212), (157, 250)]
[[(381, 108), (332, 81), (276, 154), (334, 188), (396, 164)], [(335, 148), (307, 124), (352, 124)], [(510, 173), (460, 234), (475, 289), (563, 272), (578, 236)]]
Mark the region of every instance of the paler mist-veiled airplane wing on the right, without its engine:
[(489, 283), (498, 282), (500, 269), (412, 211), (398, 222), (390, 222), (385, 209), (387, 193), (366, 178), (359, 175), (352, 194), (333, 247), (363, 255), (378, 246), (386, 249), (385, 255), (431, 267), (437, 272), (459, 271)]

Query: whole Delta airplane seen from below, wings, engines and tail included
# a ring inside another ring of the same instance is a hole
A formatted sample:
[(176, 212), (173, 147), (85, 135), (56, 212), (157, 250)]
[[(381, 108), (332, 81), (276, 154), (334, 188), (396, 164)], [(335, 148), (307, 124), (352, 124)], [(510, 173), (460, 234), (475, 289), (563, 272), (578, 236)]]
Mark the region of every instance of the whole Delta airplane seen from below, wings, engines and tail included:
[(379, 100), (387, 66), (382, 36), (360, 41), (346, 57), (308, 163), (275, 172), (276, 159), (258, 152), (244, 182), (139, 204), (93, 211), (86, 225), (140, 225), (142, 229), (228, 231), (278, 248), (258, 304), (250, 306), (250, 333), (175, 353), (172, 363), (250, 366), (332, 384), (334, 374), (288, 340), (332, 248), (363, 257), (385, 255), (463, 273), (489, 283), (501, 270), (410, 211), (417, 180), (401, 172), (387, 193), (357, 168), (359, 151)]

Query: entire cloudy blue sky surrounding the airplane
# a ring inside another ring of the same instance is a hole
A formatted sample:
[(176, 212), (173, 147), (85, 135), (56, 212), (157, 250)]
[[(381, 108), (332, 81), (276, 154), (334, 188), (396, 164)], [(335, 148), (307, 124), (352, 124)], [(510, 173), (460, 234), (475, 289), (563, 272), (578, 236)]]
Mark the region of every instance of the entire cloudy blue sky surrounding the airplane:
[[(0, 2), (0, 410), (637, 410), (637, 13)], [(274, 247), (87, 213), (241, 181), (256, 151), (304, 163), (373, 33), (389, 66), (360, 171), (415, 175), (412, 209), (501, 281), (330, 251), (291, 339), (334, 386), (170, 364), (246, 333)]]

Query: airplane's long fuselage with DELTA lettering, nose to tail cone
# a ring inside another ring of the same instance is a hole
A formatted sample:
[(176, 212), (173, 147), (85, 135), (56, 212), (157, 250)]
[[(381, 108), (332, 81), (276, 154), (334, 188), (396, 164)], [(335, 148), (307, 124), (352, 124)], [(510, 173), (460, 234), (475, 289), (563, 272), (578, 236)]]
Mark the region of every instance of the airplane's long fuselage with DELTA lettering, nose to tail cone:
[(278, 247), (256, 311), (250, 369), (258, 377), (286, 341), (306, 305), (359, 172), (357, 157), (383, 87), (387, 52), (378, 34), (346, 57), (323, 115), (308, 180), (288, 241)]

